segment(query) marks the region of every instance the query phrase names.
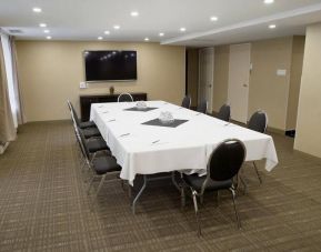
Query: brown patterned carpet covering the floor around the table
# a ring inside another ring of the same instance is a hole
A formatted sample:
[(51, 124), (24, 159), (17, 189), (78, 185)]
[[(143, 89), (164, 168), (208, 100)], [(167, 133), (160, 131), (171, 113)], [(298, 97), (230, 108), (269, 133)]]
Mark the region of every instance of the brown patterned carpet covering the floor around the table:
[(244, 167), (238, 230), (229, 193), (205, 195), (198, 238), (192, 202), (170, 181), (151, 183), (137, 214), (119, 182), (87, 195), (70, 122), (29, 123), (0, 157), (0, 251), (320, 251), (321, 160), (273, 135), (280, 164), (263, 184)]

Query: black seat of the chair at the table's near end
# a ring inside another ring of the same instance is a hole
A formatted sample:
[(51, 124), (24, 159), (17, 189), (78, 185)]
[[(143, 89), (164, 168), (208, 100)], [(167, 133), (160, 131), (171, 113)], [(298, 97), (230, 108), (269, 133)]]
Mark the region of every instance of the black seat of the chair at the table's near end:
[[(183, 179), (188, 185), (192, 187), (194, 190), (200, 192), (202, 189), (202, 184), (204, 180), (207, 179), (207, 177), (205, 175), (199, 177), (198, 174), (191, 174), (191, 175), (184, 174)], [(233, 184), (232, 180), (224, 180), (224, 181), (210, 180), (209, 183), (207, 184), (205, 191), (229, 189), (232, 187), (232, 184)]]

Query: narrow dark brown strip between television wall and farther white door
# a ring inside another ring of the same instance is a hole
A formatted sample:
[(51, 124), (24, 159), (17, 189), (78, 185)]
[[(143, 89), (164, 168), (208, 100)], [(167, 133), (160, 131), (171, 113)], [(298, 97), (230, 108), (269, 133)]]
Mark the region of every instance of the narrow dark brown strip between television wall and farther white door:
[(192, 107), (198, 105), (199, 89), (199, 49), (188, 49), (188, 94), (191, 95)]

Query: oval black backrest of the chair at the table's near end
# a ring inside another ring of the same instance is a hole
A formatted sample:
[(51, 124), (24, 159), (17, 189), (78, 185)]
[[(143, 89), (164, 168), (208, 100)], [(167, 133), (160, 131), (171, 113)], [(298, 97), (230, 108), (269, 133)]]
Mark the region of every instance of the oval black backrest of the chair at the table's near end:
[(238, 139), (221, 142), (208, 162), (208, 178), (214, 181), (230, 180), (239, 173), (247, 155), (247, 149)]

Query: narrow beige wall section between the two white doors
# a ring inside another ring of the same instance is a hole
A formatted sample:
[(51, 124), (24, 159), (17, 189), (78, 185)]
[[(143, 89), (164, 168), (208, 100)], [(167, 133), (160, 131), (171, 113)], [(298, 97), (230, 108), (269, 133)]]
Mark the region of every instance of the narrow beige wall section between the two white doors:
[(228, 101), (230, 46), (214, 48), (213, 111)]

